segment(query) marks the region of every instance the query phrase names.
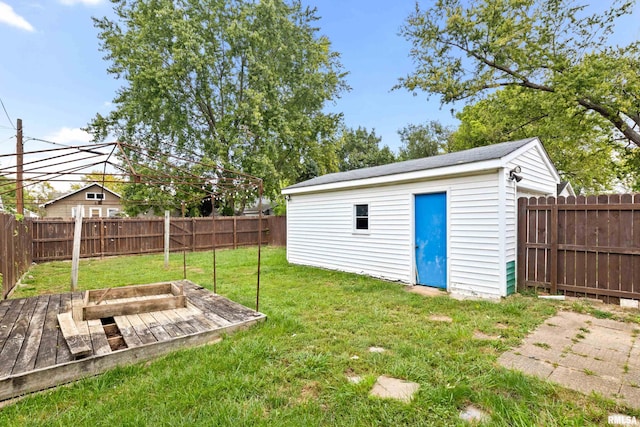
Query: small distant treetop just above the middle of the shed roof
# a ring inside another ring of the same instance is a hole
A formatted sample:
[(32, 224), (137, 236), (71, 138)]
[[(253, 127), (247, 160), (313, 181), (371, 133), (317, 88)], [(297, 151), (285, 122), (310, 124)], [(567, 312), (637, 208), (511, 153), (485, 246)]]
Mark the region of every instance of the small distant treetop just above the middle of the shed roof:
[(449, 152), (451, 129), (437, 121), (409, 124), (398, 131), (400, 146), (398, 160), (420, 159)]

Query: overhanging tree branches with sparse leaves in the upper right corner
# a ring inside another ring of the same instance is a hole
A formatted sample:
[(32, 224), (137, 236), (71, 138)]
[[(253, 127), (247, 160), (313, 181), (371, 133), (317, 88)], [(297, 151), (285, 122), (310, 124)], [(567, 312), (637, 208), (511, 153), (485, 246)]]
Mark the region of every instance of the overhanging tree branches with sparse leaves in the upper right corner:
[(416, 70), (398, 86), (479, 99), (502, 87), (544, 92), (574, 114), (597, 114), (640, 145), (640, 41), (611, 46), (617, 18), (634, 1), (588, 14), (574, 0), (438, 0), (416, 5), (402, 34)]

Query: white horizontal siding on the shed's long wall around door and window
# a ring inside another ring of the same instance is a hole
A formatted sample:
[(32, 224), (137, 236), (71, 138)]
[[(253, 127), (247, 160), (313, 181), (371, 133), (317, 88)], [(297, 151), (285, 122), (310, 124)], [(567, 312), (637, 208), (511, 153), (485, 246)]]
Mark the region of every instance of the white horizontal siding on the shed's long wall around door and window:
[[(447, 192), (448, 290), (499, 297), (498, 172), (293, 194), (287, 206), (287, 259), (329, 269), (415, 283), (415, 194)], [(369, 204), (369, 233), (354, 233), (353, 206)]]

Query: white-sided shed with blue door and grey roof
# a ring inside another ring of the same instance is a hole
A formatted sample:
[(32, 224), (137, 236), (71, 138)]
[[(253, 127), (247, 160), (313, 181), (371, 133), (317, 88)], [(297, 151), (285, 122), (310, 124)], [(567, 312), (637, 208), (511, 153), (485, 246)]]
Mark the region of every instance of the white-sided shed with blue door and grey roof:
[(287, 259), (500, 298), (515, 292), (517, 198), (555, 195), (538, 138), (291, 185)]

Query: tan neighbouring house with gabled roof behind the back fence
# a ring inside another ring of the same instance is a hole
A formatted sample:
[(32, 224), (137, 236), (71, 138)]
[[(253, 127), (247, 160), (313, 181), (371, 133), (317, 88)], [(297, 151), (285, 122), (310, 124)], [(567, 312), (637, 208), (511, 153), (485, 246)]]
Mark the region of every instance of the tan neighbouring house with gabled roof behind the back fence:
[(82, 205), (85, 218), (119, 216), (123, 212), (122, 197), (107, 187), (91, 183), (43, 204), (48, 218), (75, 218), (76, 207)]

